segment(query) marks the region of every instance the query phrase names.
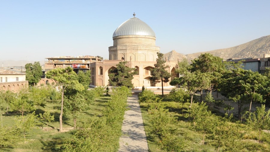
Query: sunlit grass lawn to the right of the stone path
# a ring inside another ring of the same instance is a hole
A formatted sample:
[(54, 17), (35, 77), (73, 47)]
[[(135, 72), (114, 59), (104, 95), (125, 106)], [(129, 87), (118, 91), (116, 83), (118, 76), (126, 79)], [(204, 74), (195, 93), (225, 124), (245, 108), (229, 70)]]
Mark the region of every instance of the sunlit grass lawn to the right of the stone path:
[[(161, 97), (161, 95), (160, 95)], [(174, 125), (174, 127), (177, 128), (179, 133), (182, 134), (182, 136), (185, 139), (185, 148), (183, 151), (217, 151), (217, 148), (215, 148), (212, 145), (211, 140), (205, 139), (205, 145), (202, 145), (202, 137), (203, 132), (202, 131), (192, 131), (189, 129), (190, 123), (188, 122), (188, 119), (184, 116), (186, 115), (186, 112), (182, 115), (182, 105), (178, 105), (176, 102), (172, 102), (168, 95), (164, 95), (162, 97), (165, 103), (167, 103), (166, 108), (169, 109), (170, 115), (174, 115), (177, 117), (177, 123)], [(215, 98), (215, 97), (214, 97)], [(220, 97), (219, 98), (223, 98)], [(223, 98), (224, 99), (224, 98)], [(220, 99), (219, 99), (220, 100)], [(199, 101), (199, 96), (194, 97), (194, 101)], [(214, 103), (212, 103), (214, 105)], [(190, 103), (185, 103), (183, 106), (183, 109), (186, 110), (189, 107)], [(147, 103), (140, 103), (142, 115), (143, 115), (143, 123), (145, 125), (146, 130), (146, 136), (147, 136), (147, 142), (149, 146), (150, 152), (163, 152), (158, 146), (157, 142), (159, 142), (159, 138), (152, 133), (149, 133), (149, 117), (148, 117), (148, 104)], [(220, 112), (220, 110), (214, 108), (213, 106), (210, 106), (208, 110), (211, 110), (212, 113), (219, 116), (224, 116), (223, 112)], [(233, 120), (234, 121), (234, 120)], [(232, 122), (234, 123), (234, 122)], [(246, 125), (243, 125), (246, 126)], [(243, 130), (246, 130), (247, 127), (243, 127)], [(206, 134), (208, 136), (209, 134)], [(257, 138), (258, 133), (256, 131), (250, 131), (249, 135), (244, 136), (243, 144), (248, 144), (251, 148), (250, 151), (252, 151), (252, 147), (261, 147), (261, 151), (270, 151), (270, 134), (269, 133), (262, 133), (261, 139), (264, 141), (263, 144), (258, 144)], [(220, 151), (222, 151), (222, 148), (220, 148)]]

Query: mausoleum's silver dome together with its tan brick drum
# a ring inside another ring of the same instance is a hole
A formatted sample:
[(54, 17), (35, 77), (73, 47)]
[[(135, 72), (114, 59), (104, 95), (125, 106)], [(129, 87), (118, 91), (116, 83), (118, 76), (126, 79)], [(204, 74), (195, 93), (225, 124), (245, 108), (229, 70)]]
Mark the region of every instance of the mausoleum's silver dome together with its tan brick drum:
[(156, 61), (155, 32), (135, 17), (122, 23), (113, 33), (113, 46), (109, 47), (109, 60)]

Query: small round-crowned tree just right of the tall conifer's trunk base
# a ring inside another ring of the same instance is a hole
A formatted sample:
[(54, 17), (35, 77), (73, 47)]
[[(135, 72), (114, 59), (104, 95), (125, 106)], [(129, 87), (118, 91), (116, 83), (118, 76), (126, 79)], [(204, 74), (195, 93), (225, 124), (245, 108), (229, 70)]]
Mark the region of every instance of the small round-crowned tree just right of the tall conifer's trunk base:
[[(169, 97), (172, 101), (179, 103), (182, 103), (182, 114), (183, 114), (183, 107), (184, 107), (184, 103), (188, 102), (189, 100), (189, 94), (186, 93), (186, 91), (184, 91), (184, 89), (179, 88), (173, 88), (170, 91)], [(177, 108), (178, 108), (178, 104), (177, 104)]]

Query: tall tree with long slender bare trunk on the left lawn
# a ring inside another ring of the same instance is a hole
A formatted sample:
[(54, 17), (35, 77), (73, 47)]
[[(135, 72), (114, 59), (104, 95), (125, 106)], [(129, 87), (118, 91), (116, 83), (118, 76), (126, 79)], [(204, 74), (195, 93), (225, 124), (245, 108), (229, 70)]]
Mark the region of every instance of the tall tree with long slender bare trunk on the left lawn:
[[(60, 87), (62, 98), (61, 98), (61, 112), (59, 116), (60, 129), (59, 132), (63, 131), (62, 127), (62, 117), (63, 117), (63, 106), (64, 106), (64, 92), (67, 86), (70, 86), (76, 90), (80, 88), (79, 82), (77, 80), (77, 75), (71, 67), (57, 68), (50, 70), (46, 73), (48, 79), (54, 79), (57, 86)], [(80, 85), (81, 86), (81, 85)], [(83, 88), (84, 89), (84, 88)]]

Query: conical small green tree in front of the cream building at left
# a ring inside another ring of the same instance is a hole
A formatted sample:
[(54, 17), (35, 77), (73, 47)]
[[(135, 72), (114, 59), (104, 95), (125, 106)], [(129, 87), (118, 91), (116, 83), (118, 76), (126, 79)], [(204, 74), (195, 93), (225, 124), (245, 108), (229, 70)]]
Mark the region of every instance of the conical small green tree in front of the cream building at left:
[(10, 108), (12, 111), (19, 111), (22, 113), (22, 121), (23, 121), (23, 113), (30, 112), (34, 110), (34, 105), (29, 97), (29, 92), (27, 88), (21, 89), (18, 97), (10, 103)]

